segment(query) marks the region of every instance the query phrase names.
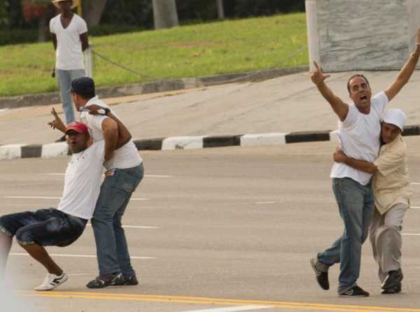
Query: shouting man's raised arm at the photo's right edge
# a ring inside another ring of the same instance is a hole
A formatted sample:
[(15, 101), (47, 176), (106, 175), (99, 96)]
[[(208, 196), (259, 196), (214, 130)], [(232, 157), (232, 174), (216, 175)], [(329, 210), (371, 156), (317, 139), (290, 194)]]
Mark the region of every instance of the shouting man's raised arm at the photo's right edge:
[(398, 73), (397, 78), (391, 83), (389, 87), (386, 88), (385, 94), (388, 97), (388, 100), (391, 101), (395, 95), (400, 92), (402, 87), (408, 82), (409, 78), (412, 76), (414, 69), (416, 69), (417, 62), (419, 62), (420, 57), (420, 29), (417, 31), (417, 41), (416, 48), (412, 54), (409, 55), (407, 62)]

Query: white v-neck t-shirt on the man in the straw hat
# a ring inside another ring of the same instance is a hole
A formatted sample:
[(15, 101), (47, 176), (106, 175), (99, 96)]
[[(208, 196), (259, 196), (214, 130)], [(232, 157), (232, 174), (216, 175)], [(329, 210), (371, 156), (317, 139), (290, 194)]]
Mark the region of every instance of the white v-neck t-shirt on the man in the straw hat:
[(63, 28), (61, 14), (50, 20), (50, 31), (57, 36), (55, 51), (55, 68), (66, 71), (84, 69), (82, 42), (80, 34), (87, 32), (86, 22), (82, 17), (73, 14), (69, 26)]

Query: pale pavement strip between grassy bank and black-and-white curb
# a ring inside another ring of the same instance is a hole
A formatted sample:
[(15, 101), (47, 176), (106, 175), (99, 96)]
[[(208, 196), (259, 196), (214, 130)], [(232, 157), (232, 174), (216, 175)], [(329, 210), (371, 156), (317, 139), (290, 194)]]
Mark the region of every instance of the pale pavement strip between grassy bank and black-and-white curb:
[[(328, 79), (328, 85), (344, 100), (348, 99), (346, 81), (351, 74), (333, 73)], [(397, 74), (397, 71), (365, 73), (373, 92), (384, 90)], [(407, 125), (420, 124), (419, 86), (420, 71), (416, 71), (391, 104), (407, 113)], [(123, 103), (113, 105), (113, 109), (134, 139), (337, 128), (334, 113), (311, 83), (309, 73), (106, 102)], [(0, 111), (0, 145), (52, 143), (60, 135), (48, 129), (46, 124), (50, 120), (50, 106)]]

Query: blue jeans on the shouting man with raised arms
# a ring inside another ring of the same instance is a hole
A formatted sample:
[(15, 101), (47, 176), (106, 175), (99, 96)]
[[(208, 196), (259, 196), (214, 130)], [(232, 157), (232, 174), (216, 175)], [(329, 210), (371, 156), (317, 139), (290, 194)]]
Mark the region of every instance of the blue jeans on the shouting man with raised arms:
[(362, 244), (367, 238), (374, 198), (370, 183), (361, 185), (351, 178), (333, 178), (332, 190), (344, 233), (330, 248), (318, 253), (318, 260), (328, 266), (339, 262), (338, 292), (342, 293), (356, 285), (359, 277)]

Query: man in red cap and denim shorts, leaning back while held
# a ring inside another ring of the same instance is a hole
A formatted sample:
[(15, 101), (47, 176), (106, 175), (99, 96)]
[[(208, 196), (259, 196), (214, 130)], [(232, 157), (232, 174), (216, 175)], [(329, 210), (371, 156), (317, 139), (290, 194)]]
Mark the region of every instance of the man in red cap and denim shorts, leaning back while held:
[[(113, 118), (112, 115), (109, 116)], [(117, 147), (130, 141), (130, 132), (118, 125)], [(50, 122), (54, 127), (54, 122)], [(66, 141), (72, 156), (64, 177), (64, 191), (58, 208), (11, 213), (0, 217), (0, 280), (6, 271), (13, 236), (31, 257), (40, 262), (48, 274), (38, 291), (52, 290), (68, 276), (51, 259), (44, 246), (69, 246), (83, 233), (87, 220), (92, 218), (99, 197), (104, 166), (104, 141), (92, 143), (90, 133), (82, 122), (66, 127)]]

